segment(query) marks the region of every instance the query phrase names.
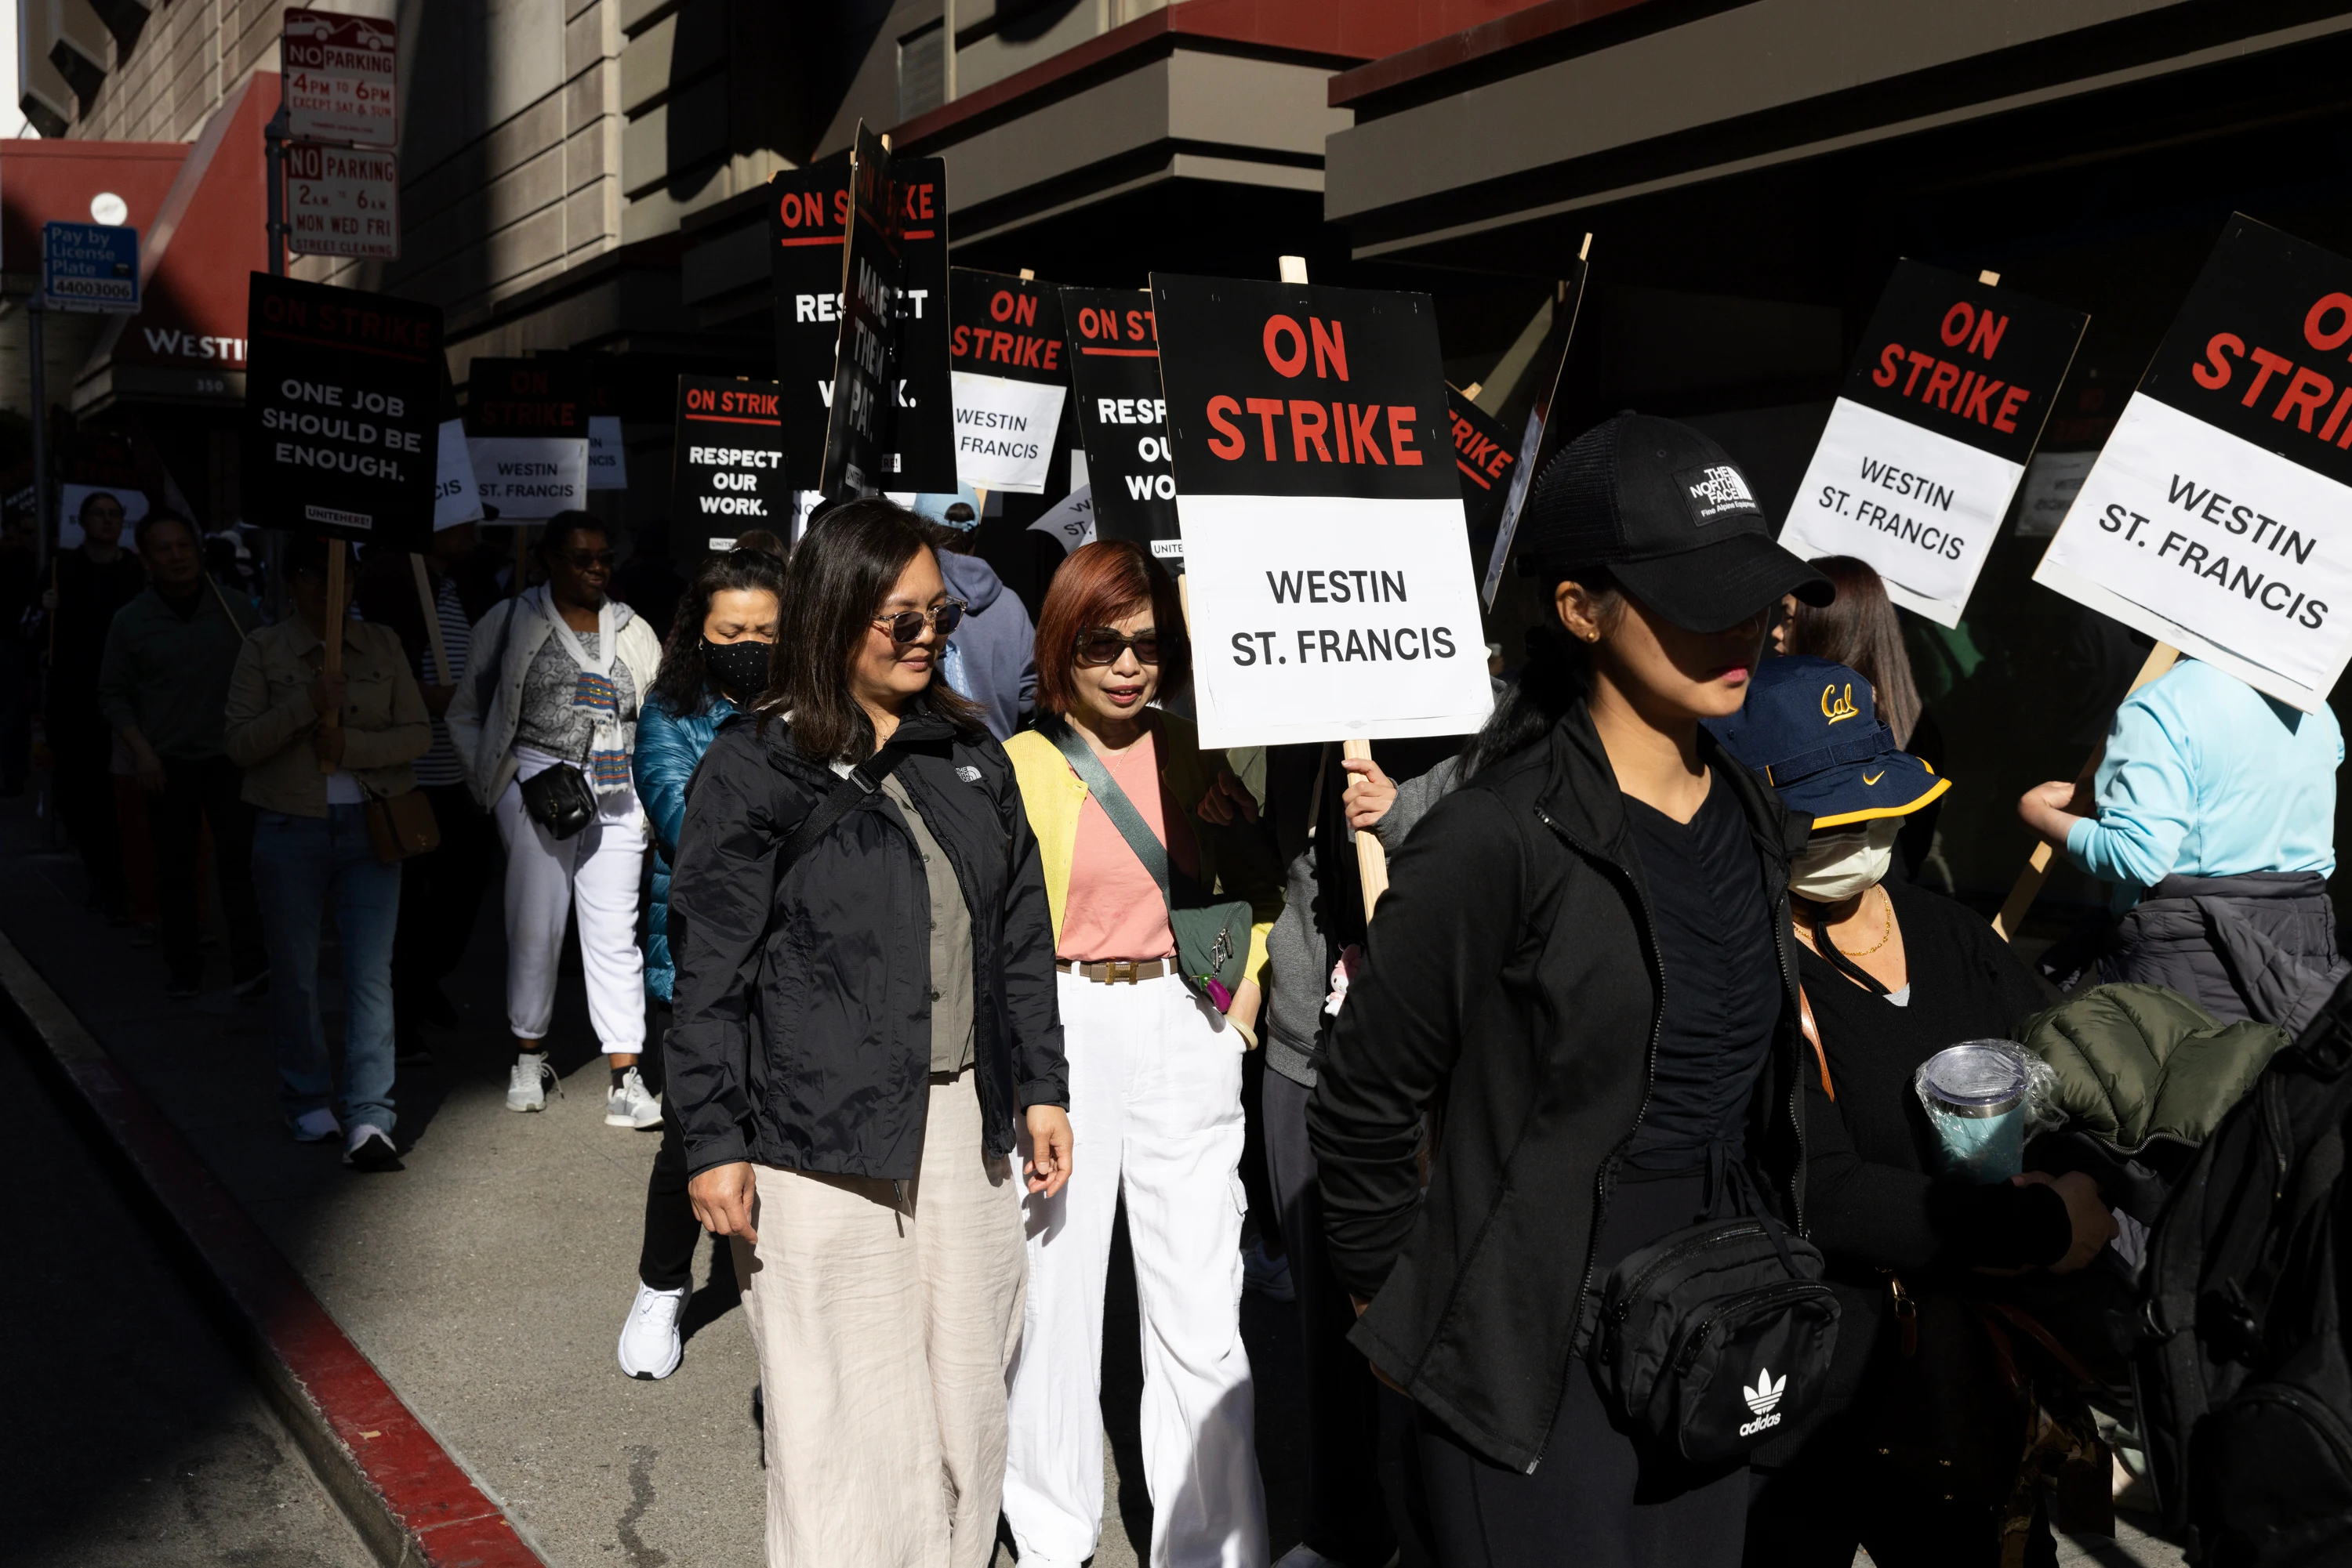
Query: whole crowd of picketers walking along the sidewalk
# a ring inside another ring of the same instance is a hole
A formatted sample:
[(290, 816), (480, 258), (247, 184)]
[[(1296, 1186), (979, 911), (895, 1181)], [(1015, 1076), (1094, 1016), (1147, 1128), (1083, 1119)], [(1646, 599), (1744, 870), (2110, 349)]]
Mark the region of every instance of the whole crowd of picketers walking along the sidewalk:
[[(2343, 738), (2183, 661), (2091, 790), (2025, 795), (2117, 889), (2060, 1004), (1910, 879), (1969, 766), (1879, 578), (1677, 503), (1719, 468), (1661, 418), (1571, 442), (1491, 719), (1378, 759), (1202, 748), (1136, 543), (1070, 552), (1033, 625), (887, 498), (642, 592), (564, 512), (503, 567), (440, 534), (435, 639), (405, 555), (339, 616), (289, 538), (263, 623), (186, 517), (125, 550), (99, 496), (45, 588), (54, 802), (122, 919), (136, 780), (176, 997), (209, 827), (285, 1124), (358, 1171), (400, 1164), (397, 1067), (454, 1023), (489, 882), (506, 1105), (543, 1110), (576, 929), (604, 1121), (661, 1138), (621, 1371), (677, 1368), (710, 1234), (771, 1566), (1094, 1556), (1120, 1208), (1155, 1566), (1270, 1556), (1244, 1281), (1298, 1312), (1284, 1568), (2049, 1563), (2133, 1453), (2082, 1326), (2133, 1288), (2150, 1117), (2194, 1145), (2343, 978)], [(388, 842), (409, 795), (428, 853)]]

